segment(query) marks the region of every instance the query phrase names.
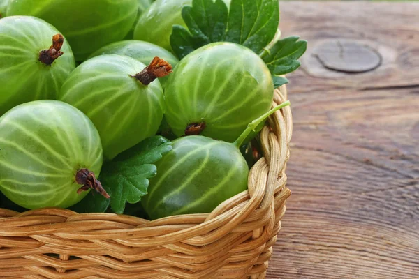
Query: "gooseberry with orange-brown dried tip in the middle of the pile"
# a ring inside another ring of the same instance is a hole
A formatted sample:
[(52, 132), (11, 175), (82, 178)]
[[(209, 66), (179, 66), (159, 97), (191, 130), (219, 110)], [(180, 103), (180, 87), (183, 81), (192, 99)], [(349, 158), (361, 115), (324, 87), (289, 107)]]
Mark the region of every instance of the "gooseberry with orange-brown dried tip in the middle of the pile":
[(101, 135), (105, 160), (112, 160), (159, 129), (164, 96), (159, 80), (154, 80), (159, 75), (152, 75), (154, 70), (168, 75), (171, 67), (155, 60), (145, 66), (128, 56), (96, 56), (78, 66), (62, 86), (59, 100), (77, 107), (93, 121)]

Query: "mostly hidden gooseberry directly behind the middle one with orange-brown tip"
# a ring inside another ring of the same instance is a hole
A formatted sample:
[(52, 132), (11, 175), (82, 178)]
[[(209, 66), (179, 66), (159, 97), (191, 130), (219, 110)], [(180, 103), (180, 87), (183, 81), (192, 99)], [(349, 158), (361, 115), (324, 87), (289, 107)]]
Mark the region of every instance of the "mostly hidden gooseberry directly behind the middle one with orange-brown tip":
[[(161, 59), (170, 63), (170, 65), (175, 68), (176, 64), (179, 62), (179, 59), (176, 58), (168, 50), (165, 50), (159, 45), (154, 45), (152, 43), (143, 42), (142, 40), (122, 40), (121, 42), (111, 43), (102, 47), (100, 50), (97, 50), (90, 57), (103, 55), (103, 54), (119, 54), (130, 56), (133, 59), (136, 59), (142, 63), (148, 65), (150, 61), (154, 59), (155, 56), (159, 56)], [(165, 86), (168, 77), (161, 77), (159, 79), (161, 86)]]

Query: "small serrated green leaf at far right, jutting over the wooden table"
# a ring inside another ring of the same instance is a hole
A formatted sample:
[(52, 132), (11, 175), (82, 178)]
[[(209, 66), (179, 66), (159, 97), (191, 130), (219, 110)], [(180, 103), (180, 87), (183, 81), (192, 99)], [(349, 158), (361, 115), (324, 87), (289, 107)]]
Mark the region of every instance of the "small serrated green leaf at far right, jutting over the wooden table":
[(297, 59), (307, 50), (307, 41), (299, 39), (300, 37), (293, 36), (278, 40), (266, 52), (267, 55), (263, 56), (263, 61), (272, 75), (285, 75), (300, 67)]

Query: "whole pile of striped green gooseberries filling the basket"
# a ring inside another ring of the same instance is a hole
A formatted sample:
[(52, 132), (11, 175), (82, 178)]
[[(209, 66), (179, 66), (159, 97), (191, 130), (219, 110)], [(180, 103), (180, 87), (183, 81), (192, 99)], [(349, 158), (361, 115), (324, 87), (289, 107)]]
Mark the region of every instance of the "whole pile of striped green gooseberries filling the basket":
[(239, 148), (288, 103), (270, 110), (270, 70), (242, 45), (179, 61), (170, 33), (186, 4), (0, 1), (2, 195), (25, 209), (112, 199), (102, 166), (163, 126), (175, 140), (142, 197), (150, 218), (210, 212), (247, 189)]

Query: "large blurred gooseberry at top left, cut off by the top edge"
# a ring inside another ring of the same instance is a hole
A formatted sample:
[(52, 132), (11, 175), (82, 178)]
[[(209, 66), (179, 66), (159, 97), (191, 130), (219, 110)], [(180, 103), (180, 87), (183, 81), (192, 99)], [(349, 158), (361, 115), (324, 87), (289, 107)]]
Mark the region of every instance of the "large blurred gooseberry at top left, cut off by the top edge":
[(9, 15), (33, 15), (57, 27), (83, 61), (98, 48), (125, 38), (138, 0), (11, 0)]

